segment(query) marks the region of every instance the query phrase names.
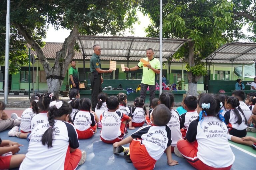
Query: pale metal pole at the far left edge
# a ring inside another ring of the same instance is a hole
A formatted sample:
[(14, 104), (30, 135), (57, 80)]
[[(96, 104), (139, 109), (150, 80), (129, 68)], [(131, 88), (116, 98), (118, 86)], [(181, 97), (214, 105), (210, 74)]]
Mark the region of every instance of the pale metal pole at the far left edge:
[(9, 45), (10, 45), (10, 0), (7, 0), (6, 31), (5, 31), (5, 71), (4, 71), (4, 102), (8, 104), (9, 91)]

